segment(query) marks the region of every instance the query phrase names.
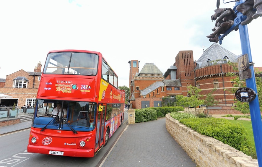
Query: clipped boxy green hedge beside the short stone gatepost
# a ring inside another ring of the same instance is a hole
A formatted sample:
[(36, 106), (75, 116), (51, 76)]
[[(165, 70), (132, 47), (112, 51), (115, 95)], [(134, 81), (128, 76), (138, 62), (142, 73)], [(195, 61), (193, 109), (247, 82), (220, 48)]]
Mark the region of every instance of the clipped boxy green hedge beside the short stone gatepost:
[(135, 110), (135, 123), (157, 120), (157, 111), (152, 108)]

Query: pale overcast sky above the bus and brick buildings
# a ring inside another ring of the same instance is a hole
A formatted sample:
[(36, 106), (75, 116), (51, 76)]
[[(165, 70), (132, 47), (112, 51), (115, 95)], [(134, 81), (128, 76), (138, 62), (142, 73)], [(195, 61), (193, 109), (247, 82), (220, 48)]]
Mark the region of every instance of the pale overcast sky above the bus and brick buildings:
[[(175, 63), (182, 50), (198, 60), (213, 43), (206, 35), (215, 22), (216, 0), (5, 0), (0, 1), (0, 78), (20, 69), (32, 72), (48, 51), (81, 49), (101, 52), (119, 86), (129, 86), (129, 60), (154, 63), (161, 72)], [(234, 2), (220, 3), (233, 8)], [(248, 24), (255, 67), (262, 67), (262, 17)], [(221, 45), (242, 54), (239, 31)], [(42, 68), (43, 70), (43, 68)], [(140, 71), (139, 71), (140, 72)]]

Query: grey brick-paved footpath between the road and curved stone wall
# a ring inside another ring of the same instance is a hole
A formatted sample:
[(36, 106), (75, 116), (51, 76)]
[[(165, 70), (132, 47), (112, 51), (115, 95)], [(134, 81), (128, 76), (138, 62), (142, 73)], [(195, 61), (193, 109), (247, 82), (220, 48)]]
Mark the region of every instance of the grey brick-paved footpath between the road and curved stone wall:
[(102, 167), (186, 166), (196, 167), (167, 132), (165, 118), (129, 124)]

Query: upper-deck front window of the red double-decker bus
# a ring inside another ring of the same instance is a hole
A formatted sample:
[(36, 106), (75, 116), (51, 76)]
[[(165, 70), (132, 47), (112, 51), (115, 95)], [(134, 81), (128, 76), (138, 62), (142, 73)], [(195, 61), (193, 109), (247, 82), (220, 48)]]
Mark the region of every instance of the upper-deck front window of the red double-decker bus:
[(49, 53), (46, 59), (44, 74), (79, 74), (96, 75), (98, 55), (81, 52)]

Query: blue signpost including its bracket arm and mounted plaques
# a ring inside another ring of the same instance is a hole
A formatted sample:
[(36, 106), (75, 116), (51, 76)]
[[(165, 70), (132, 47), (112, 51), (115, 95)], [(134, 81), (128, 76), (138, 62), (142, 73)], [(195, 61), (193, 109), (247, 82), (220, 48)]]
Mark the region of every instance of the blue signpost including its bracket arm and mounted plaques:
[[(239, 90), (237, 90), (236, 95), (238, 95), (237, 98), (238, 100), (240, 101), (242, 100), (242, 102), (249, 103), (253, 135), (254, 135), (256, 153), (258, 158), (258, 165), (262, 166), (262, 121), (261, 121), (261, 114), (260, 114), (260, 108), (258, 103), (258, 96), (256, 96), (257, 88), (256, 88), (255, 73), (254, 73), (254, 67), (253, 67), (253, 61), (252, 61), (251, 49), (250, 49), (250, 43), (248, 37), (248, 27), (247, 25), (240, 24), (247, 17), (243, 16), (241, 12), (238, 12), (236, 10), (237, 6), (244, 2), (245, 2), (244, 0), (235, 1), (235, 7), (233, 8), (233, 10), (235, 11), (235, 14), (237, 14), (237, 17), (235, 18), (232, 27), (229, 30), (227, 30), (226, 33), (219, 36), (219, 43), (222, 44), (223, 38), (227, 36), (227, 34), (229, 34), (233, 29), (235, 29), (235, 27), (239, 28), (242, 54), (243, 56), (246, 56), (246, 58), (248, 58), (248, 59), (241, 58), (241, 60), (238, 60), (240, 61), (239, 62), (240, 66), (241, 65), (246, 66), (246, 68), (240, 67), (241, 68), (240, 79), (241, 78), (246, 79), (247, 87), (240, 88)], [(261, 27), (258, 27), (258, 31), (260, 30), (260, 28)], [(244, 101), (244, 99), (246, 101)]]

